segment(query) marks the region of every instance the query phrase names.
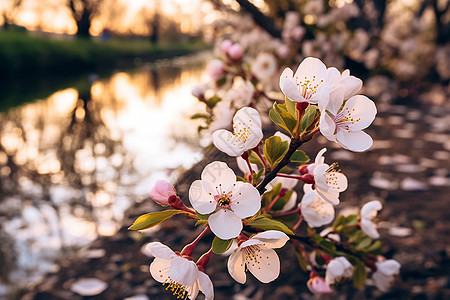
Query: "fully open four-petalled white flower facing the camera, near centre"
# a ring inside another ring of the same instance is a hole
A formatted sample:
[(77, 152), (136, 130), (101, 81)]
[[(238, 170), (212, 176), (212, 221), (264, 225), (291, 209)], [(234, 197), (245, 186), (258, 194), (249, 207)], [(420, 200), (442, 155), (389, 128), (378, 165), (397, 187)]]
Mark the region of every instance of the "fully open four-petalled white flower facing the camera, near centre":
[(233, 170), (218, 161), (207, 165), (201, 180), (192, 183), (189, 201), (200, 214), (211, 214), (209, 227), (222, 240), (237, 237), (242, 230), (241, 220), (261, 208), (258, 190), (250, 183), (236, 182)]

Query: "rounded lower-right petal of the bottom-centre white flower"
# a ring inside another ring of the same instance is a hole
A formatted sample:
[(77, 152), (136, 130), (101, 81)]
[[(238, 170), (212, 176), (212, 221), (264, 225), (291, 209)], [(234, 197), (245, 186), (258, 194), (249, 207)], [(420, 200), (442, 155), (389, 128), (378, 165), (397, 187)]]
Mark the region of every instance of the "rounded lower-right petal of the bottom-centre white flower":
[(269, 283), (280, 275), (280, 260), (272, 249), (257, 247), (253, 253), (245, 254), (248, 270), (262, 283)]

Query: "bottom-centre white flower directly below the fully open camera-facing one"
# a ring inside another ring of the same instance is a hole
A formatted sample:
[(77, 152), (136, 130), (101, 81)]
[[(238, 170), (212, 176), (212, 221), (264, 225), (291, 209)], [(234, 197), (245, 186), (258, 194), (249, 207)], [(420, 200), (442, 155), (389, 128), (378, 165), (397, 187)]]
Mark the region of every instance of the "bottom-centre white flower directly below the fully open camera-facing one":
[(280, 260), (274, 248), (281, 248), (289, 237), (276, 230), (258, 233), (243, 242), (228, 258), (228, 272), (239, 283), (245, 283), (245, 267), (261, 282), (274, 281), (280, 274)]

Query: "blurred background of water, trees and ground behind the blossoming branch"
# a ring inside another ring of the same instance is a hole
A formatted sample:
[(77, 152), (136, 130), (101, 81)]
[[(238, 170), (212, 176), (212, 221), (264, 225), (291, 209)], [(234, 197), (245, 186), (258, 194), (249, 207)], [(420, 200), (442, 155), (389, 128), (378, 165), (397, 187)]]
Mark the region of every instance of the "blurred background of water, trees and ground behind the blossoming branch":
[[(450, 297), (449, 2), (1, 0), (0, 298), (81, 299), (83, 278), (97, 280), (83, 288), (98, 299), (168, 296), (140, 247), (192, 235), (177, 218), (170, 237), (125, 228), (155, 209), (157, 179), (185, 194), (216, 158), (191, 89), (230, 88), (208, 65), (225, 39), (241, 45), (261, 93), (276, 98), (282, 69), (315, 56), (362, 78), (377, 104), (367, 153), (320, 137), (309, 146), (331, 148), (348, 174), (343, 208), (384, 201), (384, 251), (402, 263), (391, 294), (344, 299)], [(270, 289), (234, 283), (221, 261), (216, 298), (310, 299), (291, 265)]]

